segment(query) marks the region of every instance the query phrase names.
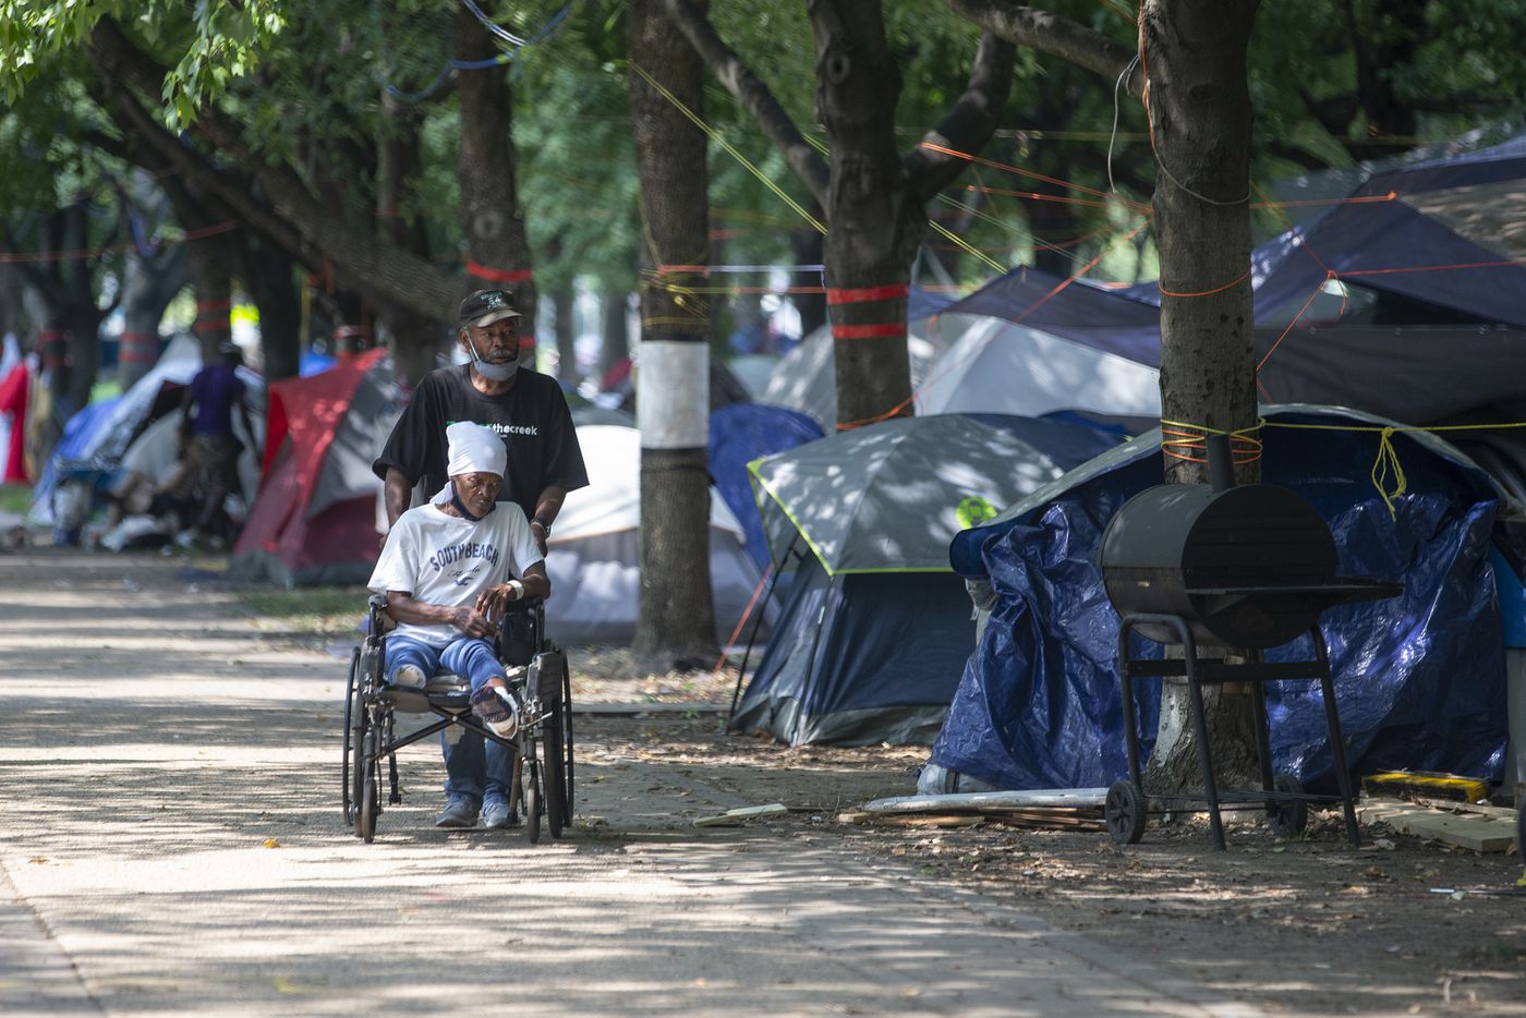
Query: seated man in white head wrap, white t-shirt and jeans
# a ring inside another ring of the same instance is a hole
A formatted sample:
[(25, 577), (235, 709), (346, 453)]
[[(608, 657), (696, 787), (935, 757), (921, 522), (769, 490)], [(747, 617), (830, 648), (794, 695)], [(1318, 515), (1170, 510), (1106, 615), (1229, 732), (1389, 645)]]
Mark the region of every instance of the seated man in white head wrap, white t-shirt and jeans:
[(398, 517), (366, 585), (398, 623), (383, 673), (400, 688), (423, 688), (441, 667), (465, 678), (472, 713), (508, 739), (520, 705), (493, 633), (510, 601), (549, 595), (551, 580), (525, 511), (497, 501), (504, 440), (472, 421), (450, 424), (446, 438), (450, 481)]

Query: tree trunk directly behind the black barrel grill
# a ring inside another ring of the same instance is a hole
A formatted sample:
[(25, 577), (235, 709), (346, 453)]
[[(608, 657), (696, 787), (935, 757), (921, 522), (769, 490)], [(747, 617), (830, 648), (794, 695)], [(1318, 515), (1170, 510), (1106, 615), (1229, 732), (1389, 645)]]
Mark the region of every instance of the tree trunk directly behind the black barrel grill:
[[(1161, 417), (1193, 430), (1256, 423), (1251, 348), (1250, 127), (1245, 50), (1256, 0), (1152, 0), (1144, 5), (1148, 75), (1158, 180), (1155, 237), (1161, 288)], [(1166, 459), (1166, 479), (1204, 481), (1204, 467)], [(1236, 469), (1259, 478), (1259, 462)], [(1254, 728), (1242, 685), (1204, 691), (1215, 768), (1225, 783), (1254, 775)], [(1167, 682), (1146, 774), (1152, 789), (1201, 788), (1187, 688)]]

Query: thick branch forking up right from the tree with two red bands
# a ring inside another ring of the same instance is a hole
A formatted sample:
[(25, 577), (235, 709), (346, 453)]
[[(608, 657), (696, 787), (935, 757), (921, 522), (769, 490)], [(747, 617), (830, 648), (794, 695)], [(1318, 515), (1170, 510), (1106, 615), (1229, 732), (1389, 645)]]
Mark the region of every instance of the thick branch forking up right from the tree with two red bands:
[[(923, 143), (952, 148), (957, 153), (980, 151), (990, 140), (990, 134), (996, 130), (996, 121), (1001, 119), (1001, 111), (1007, 104), (1015, 60), (1016, 49), (1012, 43), (984, 32), (980, 37), (980, 49), (975, 50), (975, 64), (971, 67), (964, 95), (938, 121), (937, 127), (922, 136)], [(900, 162), (906, 168), (911, 192), (922, 203), (932, 200), (969, 165), (967, 159), (938, 153), (923, 145), (917, 145), (902, 156)]]

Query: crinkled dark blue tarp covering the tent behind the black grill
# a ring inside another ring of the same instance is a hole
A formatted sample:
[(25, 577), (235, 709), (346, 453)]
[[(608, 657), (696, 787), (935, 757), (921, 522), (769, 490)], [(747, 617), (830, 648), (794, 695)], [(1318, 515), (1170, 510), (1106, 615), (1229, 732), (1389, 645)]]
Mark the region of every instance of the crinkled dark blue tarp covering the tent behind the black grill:
[[(1285, 423), (1351, 423), (1279, 414)], [(1434, 440), (1393, 437), (1408, 488), (1390, 519), (1369, 481), (1376, 437), (1271, 430), (1267, 482), (1306, 498), (1329, 522), (1340, 571), (1404, 583), (1402, 597), (1329, 609), (1329, 644), (1346, 755), (1357, 774), (1386, 768), (1497, 780), (1506, 743), (1505, 656), (1489, 539), (1495, 491)], [(1117, 679), (1119, 617), (1097, 568), (1102, 531), (1123, 502), (1158, 484), (1158, 438), (1137, 440), (1094, 476), (1061, 479), (1032, 511), (986, 528), (983, 572), (996, 604), (971, 656), (932, 763), (1007, 789), (1097, 788), (1125, 777)], [(1160, 647), (1140, 643), (1146, 652)], [(1268, 659), (1309, 655), (1306, 639)], [(1158, 682), (1137, 687), (1149, 751)], [(1268, 687), (1274, 766), (1334, 788), (1317, 684)]]

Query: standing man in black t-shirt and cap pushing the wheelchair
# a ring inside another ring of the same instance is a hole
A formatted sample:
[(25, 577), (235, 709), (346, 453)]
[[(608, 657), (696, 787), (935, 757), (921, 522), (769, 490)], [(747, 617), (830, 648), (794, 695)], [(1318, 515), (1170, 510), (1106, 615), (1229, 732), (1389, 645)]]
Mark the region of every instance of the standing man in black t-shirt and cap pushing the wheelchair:
[[(568, 491), (588, 485), (583, 450), (562, 388), (519, 362), (519, 308), (505, 290), (478, 290), (461, 301), (458, 342), (468, 362), (424, 375), (372, 469), (385, 482), (388, 525), (409, 508), (420, 482), (438, 491), (449, 481), (446, 429), (472, 421), (507, 447), (499, 502), (514, 502), (530, 519), (542, 554)], [(452, 745), (450, 739), (459, 737)], [(481, 812), (487, 827), (508, 824), (508, 752), (456, 726), (443, 736), (446, 809), (441, 827), (470, 827)]]

